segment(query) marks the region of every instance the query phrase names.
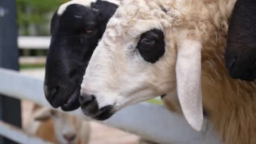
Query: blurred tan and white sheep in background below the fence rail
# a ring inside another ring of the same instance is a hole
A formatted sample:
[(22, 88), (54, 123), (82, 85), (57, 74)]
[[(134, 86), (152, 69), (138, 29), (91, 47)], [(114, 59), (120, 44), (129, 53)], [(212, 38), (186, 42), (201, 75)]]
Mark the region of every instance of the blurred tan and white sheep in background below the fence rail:
[(61, 144), (86, 144), (90, 136), (89, 122), (39, 106), (34, 106), (24, 129), (43, 140)]

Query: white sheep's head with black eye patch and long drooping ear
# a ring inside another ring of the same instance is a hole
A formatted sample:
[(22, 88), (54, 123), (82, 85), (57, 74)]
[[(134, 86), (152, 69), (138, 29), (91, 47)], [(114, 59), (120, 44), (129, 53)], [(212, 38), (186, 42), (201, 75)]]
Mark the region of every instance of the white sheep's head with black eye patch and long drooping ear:
[(182, 10), (175, 6), (185, 3), (122, 2), (84, 75), (80, 102), (85, 115), (102, 120), (123, 107), (176, 93), (188, 123), (201, 130), (202, 43), (191, 36), (194, 30), (179, 24)]

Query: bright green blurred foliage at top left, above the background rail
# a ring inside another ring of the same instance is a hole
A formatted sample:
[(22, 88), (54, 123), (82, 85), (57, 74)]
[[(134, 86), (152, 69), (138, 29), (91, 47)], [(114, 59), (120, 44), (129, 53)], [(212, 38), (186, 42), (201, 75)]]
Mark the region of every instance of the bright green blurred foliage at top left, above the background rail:
[(29, 35), (29, 25), (45, 25), (50, 23), (51, 15), (68, 0), (17, 0), (18, 26)]

